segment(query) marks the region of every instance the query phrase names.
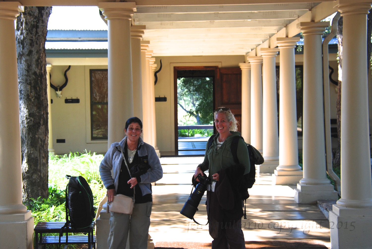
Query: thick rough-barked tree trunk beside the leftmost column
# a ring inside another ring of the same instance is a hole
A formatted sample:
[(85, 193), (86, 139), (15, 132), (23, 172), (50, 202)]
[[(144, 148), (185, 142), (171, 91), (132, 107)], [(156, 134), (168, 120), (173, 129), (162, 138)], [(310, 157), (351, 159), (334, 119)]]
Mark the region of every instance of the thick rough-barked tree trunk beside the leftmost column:
[(23, 200), (48, 198), (48, 96), (45, 40), (52, 7), (25, 7), (16, 44)]

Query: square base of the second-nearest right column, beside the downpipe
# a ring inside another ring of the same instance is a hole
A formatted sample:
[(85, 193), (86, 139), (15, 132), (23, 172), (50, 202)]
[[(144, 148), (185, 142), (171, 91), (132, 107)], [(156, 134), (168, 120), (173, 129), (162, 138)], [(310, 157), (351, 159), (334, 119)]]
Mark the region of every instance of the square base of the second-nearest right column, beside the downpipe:
[(317, 203), (318, 200), (337, 200), (338, 193), (332, 184), (305, 185), (298, 183), (294, 198), (296, 203), (312, 204)]

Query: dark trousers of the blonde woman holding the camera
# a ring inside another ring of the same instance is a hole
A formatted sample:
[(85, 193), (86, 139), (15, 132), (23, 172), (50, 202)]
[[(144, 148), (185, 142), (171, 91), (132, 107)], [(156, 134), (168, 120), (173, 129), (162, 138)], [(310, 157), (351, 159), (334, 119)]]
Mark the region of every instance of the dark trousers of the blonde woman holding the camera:
[(245, 249), (241, 219), (225, 221), (215, 192), (207, 191), (207, 214), (209, 234), (213, 238), (212, 249)]

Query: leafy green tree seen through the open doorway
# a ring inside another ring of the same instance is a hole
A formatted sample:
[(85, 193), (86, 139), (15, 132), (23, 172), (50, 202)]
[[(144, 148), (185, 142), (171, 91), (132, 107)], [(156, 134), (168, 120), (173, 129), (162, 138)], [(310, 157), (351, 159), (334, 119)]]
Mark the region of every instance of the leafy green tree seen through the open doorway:
[[(197, 125), (213, 123), (213, 79), (185, 77), (177, 79), (177, 104)], [(184, 125), (184, 124), (179, 124)]]

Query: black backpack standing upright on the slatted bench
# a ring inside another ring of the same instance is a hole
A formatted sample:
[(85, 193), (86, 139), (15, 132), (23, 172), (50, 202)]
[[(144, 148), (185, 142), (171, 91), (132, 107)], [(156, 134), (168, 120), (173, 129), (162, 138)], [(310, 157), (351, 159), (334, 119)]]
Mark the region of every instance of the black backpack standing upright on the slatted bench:
[(66, 186), (66, 224), (73, 228), (89, 227), (95, 216), (93, 194), (83, 176), (69, 176)]

